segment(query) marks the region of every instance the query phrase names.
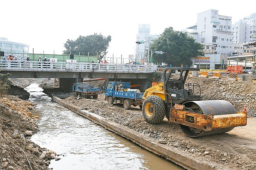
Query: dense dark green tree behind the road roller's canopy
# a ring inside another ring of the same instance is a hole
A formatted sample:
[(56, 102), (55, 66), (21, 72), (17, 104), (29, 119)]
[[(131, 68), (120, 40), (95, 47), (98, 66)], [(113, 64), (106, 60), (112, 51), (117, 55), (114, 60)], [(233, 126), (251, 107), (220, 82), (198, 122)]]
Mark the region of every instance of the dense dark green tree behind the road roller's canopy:
[(150, 45), (152, 51), (164, 51), (165, 54), (154, 54), (153, 62), (165, 62), (173, 66), (192, 65), (191, 58), (204, 56), (203, 45), (195, 42), (187, 33), (166, 28)]

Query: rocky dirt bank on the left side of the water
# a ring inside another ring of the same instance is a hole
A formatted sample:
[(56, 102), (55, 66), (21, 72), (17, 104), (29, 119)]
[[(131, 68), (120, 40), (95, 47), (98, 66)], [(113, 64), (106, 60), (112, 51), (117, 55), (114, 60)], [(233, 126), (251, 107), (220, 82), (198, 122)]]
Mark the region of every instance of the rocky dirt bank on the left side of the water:
[(49, 160), (40, 158), (46, 149), (26, 139), (38, 130), (38, 117), (29, 111), (34, 106), (17, 96), (1, 96), (1, 170), (49, 170)]

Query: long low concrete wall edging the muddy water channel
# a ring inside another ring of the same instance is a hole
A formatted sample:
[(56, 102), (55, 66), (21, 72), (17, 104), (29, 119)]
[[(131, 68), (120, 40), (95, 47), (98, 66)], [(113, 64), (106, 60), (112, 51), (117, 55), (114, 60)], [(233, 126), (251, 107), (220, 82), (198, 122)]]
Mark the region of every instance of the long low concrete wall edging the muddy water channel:
[(102, 127), (105, 127), (105, 129), (108, 129), (122, 137), (125, 137), (126, 139), (131, 140), (132, 142), (138, 144), (140, 147), (143, 147), (144, 149), (151, 151), (159, 156), (163, 156), (164, 158), (180, 165), (181, 167), (184, 167), (187, 170), (216, 170), (215, 168), (212, 168), (209, 165), (204, 164), (203, 161), (195, 161), (187, 156), (175, 152), (175, 150), (177, 150), (177, 148), (175, 147), (172, 148), (166, 146), (166, 144), (154, 142), (152, 141), (152, 138), (145, 136), (142, 133), (131, 130), (128, 127), (119, 125), (95, 113), (90, 113), (86, 110), (79, 110), (79, 107), (64, 103), (57, 96), (52, 96), (52, 100), (70, 109), (71, 111), (74, 111), (79, 115), (84, 116), (87, 119), (90, 119), (94, 123), (99, 124)]

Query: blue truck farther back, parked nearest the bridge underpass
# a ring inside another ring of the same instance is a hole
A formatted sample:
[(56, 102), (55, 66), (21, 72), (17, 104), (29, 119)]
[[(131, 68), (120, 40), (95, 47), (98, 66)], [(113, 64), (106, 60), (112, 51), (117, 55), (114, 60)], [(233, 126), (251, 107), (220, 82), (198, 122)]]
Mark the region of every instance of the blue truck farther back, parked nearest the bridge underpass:
[(88, 83), (74, 83), (73, 84), (73, 93), (74, 95), (90, 99), (93, 96), (93, 99), (98, 98), (98, 94), (102, 94), (101, 88), (92, 87)]

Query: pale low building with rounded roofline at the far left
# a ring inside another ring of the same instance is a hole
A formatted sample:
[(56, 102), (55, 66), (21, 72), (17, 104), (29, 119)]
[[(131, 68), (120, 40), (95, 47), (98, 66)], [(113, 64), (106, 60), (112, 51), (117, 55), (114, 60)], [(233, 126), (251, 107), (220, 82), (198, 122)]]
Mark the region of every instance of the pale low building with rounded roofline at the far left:
[(26, 56), (29, 53), (29, 45), (8, 41), (7, 38), (0, 37), (0, 51), (4, 51), (5, 56), (9, 54), (17, 57)]

